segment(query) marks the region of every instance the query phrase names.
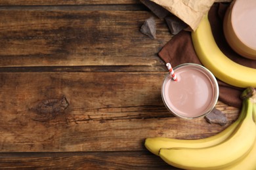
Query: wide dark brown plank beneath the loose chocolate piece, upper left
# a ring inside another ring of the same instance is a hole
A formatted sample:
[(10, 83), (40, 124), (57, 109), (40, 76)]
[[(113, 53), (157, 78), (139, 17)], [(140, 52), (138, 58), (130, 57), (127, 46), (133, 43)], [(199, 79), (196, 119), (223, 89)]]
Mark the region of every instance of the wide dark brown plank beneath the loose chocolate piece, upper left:
[(140, 33), (150, 16), (147, 11), (0, 10), (0, 66), (162, 65), (158, 52), (171, 34), (157, 18), (157, 39)]

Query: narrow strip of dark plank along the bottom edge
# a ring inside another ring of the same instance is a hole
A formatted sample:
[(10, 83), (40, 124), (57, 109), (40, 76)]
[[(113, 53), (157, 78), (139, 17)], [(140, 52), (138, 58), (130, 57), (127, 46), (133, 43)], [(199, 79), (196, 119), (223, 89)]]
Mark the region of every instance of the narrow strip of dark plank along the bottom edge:
[(178, 169), (149, 152), (0, 153), (1, 169)]

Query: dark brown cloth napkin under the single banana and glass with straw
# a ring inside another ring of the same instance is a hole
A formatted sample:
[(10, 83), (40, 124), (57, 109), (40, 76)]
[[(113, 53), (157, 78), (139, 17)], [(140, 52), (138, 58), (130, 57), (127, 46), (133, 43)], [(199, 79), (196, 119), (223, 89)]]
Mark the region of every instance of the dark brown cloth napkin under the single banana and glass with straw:
[[(256, 60), (243, 58), (236, 54), (236, 52), (228, 46), (224, 38), (223, 18), (228, 6), (229, 3), (215, 3), (209, 10), (208, 18), (215, 41), (228, 58), (232, 59), (236, 63), (240, 63), (241, 65), (256, 69)], [(159, 56), (166, 63), (171, 63), (173, 67), (181, 63), (198, 63), (202, 65), (196, 56), (196, 52), (192, 44), (191, 33), (189, 31), (181, 31), (179, 34), (175, 35), (171, 41), (167, 42), (167, 44), (163, 46), (159, 52)], [(242, 100), (240, 99), (240, 94), (244, 89), (230, 86), (221, 80), (218, 80), (218, 83), (220, 92), (219, 100), (232, 107), (241, 108)]]

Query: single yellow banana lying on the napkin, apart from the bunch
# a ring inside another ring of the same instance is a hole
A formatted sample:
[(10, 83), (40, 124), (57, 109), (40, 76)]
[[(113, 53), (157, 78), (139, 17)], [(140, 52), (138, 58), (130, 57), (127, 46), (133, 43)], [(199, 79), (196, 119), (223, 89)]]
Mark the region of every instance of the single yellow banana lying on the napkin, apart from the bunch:
[(217, 78), (240, 88), (256, 87), (256, 69), (245, 67), (227, 58), (217, 46), (207, 15), (192, 32), (192, 42), (198, 58)]

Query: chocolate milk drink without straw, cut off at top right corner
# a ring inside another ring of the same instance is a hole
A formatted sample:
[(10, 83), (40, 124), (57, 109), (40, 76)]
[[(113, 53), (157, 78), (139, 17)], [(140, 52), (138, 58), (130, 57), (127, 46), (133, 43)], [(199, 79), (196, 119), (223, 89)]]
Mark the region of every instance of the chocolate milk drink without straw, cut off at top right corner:
[(230, 47), (241, 56), (256, 59), (256, 1), (230, 3), (223, 20), (223, 32)]

